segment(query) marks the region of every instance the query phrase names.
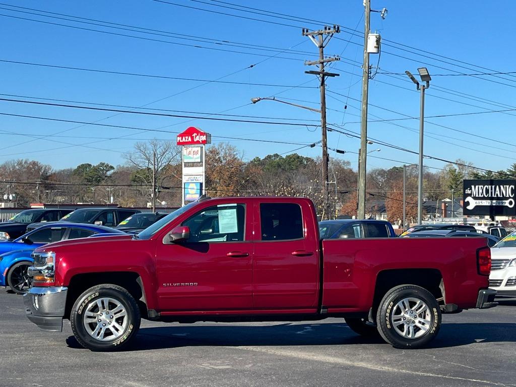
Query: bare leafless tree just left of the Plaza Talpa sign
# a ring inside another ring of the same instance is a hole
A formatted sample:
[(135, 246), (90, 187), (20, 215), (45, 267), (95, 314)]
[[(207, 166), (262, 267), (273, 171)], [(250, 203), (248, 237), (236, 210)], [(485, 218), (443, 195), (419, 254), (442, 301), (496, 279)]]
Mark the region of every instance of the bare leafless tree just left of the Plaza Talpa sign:
[(175, 178), (181, 181), (181, 175), (174, 168), (174, 165), (181, 163), (181, 147), (172, 141), (137, 142), (134, 151), (124, 157), (130, 166), (136, 167), (131, 181), (144, 186), (143, 192), (147, 193), (152, 210), (155, 211), (159, 187), (163, 186), (165, 180)]

